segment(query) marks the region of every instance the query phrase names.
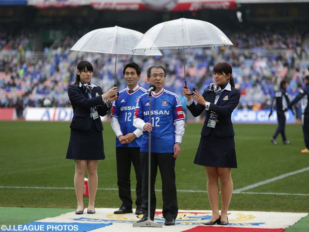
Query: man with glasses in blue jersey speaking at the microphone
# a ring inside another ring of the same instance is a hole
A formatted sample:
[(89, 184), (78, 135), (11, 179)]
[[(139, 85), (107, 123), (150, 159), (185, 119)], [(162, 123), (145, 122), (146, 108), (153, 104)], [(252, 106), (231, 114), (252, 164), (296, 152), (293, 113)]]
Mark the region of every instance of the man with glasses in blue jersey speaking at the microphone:
[(175, 160), (179, 155), (184, 134), (184, 116), (179, 97), (163, 88), (166, 71), (161, 65), (153, 65), (147, 71), (148, 83), (156, 89), (151, 92), (151, 123), (149, 123), (149, 94), (143, 94), (137, 103), (133, 125), (144, 133), (141, 145), (142, 210), (148, 220), (148, 167), (149, 132), (151, 131), (151, 220), (154, 220), (156, 198), (154, 192), (157, 167), (162, 179), (162, 214), (165, 226), (175, 225), (178, 214), (175, 184)]

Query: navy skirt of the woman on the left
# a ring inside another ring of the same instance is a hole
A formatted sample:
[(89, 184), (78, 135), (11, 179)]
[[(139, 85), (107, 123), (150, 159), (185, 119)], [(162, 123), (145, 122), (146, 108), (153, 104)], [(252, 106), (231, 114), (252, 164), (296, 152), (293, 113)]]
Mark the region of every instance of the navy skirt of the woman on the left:
[(93, 122), (89, 130), (71, 128), (67, 159), (71, 160), (104, 160), (102, 131)]

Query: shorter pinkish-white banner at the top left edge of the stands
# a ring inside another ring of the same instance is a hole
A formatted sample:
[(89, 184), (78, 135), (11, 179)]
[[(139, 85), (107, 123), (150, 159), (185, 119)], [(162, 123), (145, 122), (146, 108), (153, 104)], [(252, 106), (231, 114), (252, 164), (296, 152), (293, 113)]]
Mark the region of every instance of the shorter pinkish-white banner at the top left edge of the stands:
[(89, 0), (28, 0), (28, 5), (33, 5), (36, 8), (48, 7), (78, 7), (89, 5)]

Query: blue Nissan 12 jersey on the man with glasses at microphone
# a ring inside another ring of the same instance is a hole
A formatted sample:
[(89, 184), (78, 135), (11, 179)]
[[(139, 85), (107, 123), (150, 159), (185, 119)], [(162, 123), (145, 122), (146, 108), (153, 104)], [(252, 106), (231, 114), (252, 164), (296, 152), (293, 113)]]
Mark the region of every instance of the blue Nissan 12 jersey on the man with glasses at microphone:
[[(149, 94), (144, 94), (139, 98), (134, 118), (140, 118), (144, 122), (149, 122)], [(167, 90), (160, 94), (152, 95), (151, 102), (151, 152), (173, 153), (175, 144), (174, 122), (184, 120), (181, 102), (179, 97)], [(149, 132), (144, 131), (141, 145), (141, 152), (149, 152)]]

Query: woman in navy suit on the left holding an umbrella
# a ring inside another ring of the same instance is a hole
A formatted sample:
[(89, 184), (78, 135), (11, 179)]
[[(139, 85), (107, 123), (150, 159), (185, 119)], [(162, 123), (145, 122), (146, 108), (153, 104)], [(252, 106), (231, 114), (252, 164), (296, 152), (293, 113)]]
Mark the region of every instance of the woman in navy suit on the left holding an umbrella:
[[(103, 125), (100, 116), (105, 116), (111, 108), (111, 102), (117, 99), (117, 87), (103, 94), (100, 86), (90, 82), (92, 72), (91, 63), (79, 62), (75, 83), (68, 87), (68, 95), (73, 107), (73, 119), (70, 125), (71, 135), (66, 158), (75, 161), (74, 186), (77, 197), (75, 214), (84, 212), (83, 191), (86, 168), (89, 189), (87, 213), (95, 213), (98, 160), (105, 159)], [(106, 103), (105, 99), (108, 99)]]

